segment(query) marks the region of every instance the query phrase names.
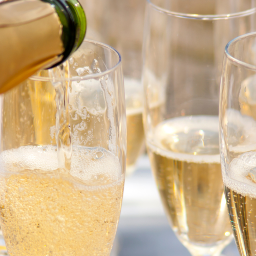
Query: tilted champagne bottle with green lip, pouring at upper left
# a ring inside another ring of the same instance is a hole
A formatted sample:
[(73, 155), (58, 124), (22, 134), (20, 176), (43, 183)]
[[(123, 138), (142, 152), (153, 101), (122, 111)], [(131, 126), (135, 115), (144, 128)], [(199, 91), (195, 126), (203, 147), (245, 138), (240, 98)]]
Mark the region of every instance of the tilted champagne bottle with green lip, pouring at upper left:
[(86, 15), (77, 0), (0, 4), (0, 93), (65, 61), (81, 44)]

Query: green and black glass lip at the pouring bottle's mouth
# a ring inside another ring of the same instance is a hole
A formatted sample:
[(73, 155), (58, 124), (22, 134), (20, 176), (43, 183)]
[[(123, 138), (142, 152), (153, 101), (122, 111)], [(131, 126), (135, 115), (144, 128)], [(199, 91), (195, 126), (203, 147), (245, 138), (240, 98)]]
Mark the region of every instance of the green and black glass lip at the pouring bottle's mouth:
[(62, 24), (61, 39), (65, 51), (62, 59), (51, 68), (58, 66), (81, 45), (86, 35), (86, 15), (77, 0), (41, 0), (54, 6)]

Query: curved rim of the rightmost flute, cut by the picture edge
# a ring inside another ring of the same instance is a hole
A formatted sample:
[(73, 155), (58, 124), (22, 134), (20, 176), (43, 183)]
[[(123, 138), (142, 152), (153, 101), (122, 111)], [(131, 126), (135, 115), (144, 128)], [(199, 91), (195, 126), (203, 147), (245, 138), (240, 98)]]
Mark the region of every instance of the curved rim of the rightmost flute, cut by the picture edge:
[(237, 65), (243, 66), (243, 67), (245, 67), (245, 68), (247, 68), (247, 69), (250, 69), (250, 70), (252, 70), (252, 71), (256, 71), (256, 65), (252, 65), (252, 64), (249, 64), (249, 63), (244, 62), (244, 61), (242, 61), (242, 60), (239, 60), (239, 59), (233, 57), (233, 56), (230, 54), (230, 52), (229, 52), (229, 47), (230, 47), (231, 45), (236, 44), (238, 41), (240, 41), (240, 40), (242, 40), (242, 39), (250, 38), (250, 37), (256, 37), (256, 32), (251, 32), (251, 33), (247, 33), (247, 34), (244, 34), (244, 35), (240, 35), (240, 36), (238, 36), (238, 37), (233, 38), (232, 40), (230, 40), (230, 41), (227, 43), (226, 47), (225, 47), (225, 55), (226, 55), (226, 57), (227, 57), (230, 61), (232, 61), (232, 62), (234, 62), (234, 63), (237, 63)]

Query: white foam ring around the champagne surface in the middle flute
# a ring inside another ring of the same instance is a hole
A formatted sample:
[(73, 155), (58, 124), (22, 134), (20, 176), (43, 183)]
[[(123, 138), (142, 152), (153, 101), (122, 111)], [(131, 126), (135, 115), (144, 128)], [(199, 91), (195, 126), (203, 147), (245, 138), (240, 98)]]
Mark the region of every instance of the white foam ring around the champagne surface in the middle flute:
[(193, 163), (220, 163), (220, 155), (193, 155), (165, 150), (161, 141), (175, 133), (188, 133), (190, 130), (206, 130), (218, 133), (218, 116), (184, 116), (168, 119), (158, 124), (153, 133), (147, 136), (147, 146), (156, 154), (178, 161)]

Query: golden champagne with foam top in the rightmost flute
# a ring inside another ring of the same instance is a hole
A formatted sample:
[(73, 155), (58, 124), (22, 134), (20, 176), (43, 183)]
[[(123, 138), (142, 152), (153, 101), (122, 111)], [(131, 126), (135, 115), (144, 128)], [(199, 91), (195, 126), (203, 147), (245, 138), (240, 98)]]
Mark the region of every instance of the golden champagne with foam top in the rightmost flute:
[(256, 253), (256, 152), (234, 158), (223, 181), (234, 239), (242, 256)]

